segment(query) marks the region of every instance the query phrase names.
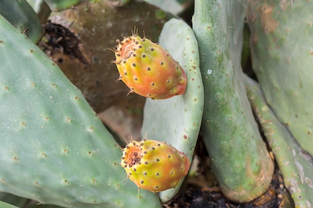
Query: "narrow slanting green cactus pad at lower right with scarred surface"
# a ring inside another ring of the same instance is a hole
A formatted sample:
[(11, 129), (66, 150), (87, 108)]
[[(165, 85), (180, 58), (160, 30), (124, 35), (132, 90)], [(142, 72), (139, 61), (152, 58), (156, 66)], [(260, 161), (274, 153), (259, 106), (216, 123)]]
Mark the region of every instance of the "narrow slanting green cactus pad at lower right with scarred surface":
[(247, 94), (296, 208), (313, 206), (313, 159), (267, 106), (259, 85), (246, 77)]

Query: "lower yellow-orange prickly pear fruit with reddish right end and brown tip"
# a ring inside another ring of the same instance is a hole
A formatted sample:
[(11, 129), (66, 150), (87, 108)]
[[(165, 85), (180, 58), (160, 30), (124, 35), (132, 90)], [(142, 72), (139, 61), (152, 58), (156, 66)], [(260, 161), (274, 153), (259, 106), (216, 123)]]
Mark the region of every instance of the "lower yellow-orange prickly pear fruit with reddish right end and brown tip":
[(121, 166), (127, 178), (150, 192), (175, 188), (189, 170), (189, 159), (165, 142), (132, 141), (122, 151)]

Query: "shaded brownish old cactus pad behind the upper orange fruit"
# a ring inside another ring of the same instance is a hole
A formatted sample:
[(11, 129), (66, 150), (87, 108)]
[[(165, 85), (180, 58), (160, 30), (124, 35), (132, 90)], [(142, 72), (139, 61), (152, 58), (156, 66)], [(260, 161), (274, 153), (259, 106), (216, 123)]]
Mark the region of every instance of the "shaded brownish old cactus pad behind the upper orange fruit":
[[(157, 42), (158, 34), (170, 16), (166, 15), (157, 19), (156, 16), (151, 15), (155, 12), (157, 9), (144, 1), (132, 0), (123, 7), (113, 8), (107, 0), (84, 0), (74, 9), (53, 12), (49, 17), (52, 24), (46, 25), (46, 28), (51, 32), (54, 31), (54, 24), (60, 24), (78, 38), (71, 42), (79, 42), (77, 46), (81, 54), (78, 51), (77, 58), (72, 59), (62, 51), (55, 50), (52, 52), (51, 58), (56, 62), (62, 60), (62, 62), (58, 62), (58, 65), (63, 73), (83, 92), (94, 111), (99, 113), (116, 105), (143, 106), (144, 97), (135, 93), (126, 96), (129, 88), (121, 81), (117, 84), (112, 81), (118, 78), (118, 71), (115, 64), (110, 64), (115, 57), (108, 48), (115, 48), (115, 40), (131, 35), (131, 29), (138, 24), (140, 33), (144, 31), (147, 37), (151, 38), (153, 42)], [(133, 22), (134, 19), (135, 22)], [(46, 37), (49, 39), (49, 36)], [(64, 38), (60, 42), (63, 40)], [(86, 70), (83, 63), (79, 61), (81, 60), (79, 57), (84, 58), (83, 60), (90, 64), (87, 67), (90, 69)]]

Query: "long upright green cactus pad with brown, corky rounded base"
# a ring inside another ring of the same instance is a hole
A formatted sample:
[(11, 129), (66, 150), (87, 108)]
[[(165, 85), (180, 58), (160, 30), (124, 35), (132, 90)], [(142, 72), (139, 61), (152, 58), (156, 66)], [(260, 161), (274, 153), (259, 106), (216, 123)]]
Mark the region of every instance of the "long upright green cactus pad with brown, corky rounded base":
[(223, 194), (237, 202), (262, 195), (273, 173), (240, 68), (245, 3), (195, 0), (192, 20), (204, 86), (203, 140)]

